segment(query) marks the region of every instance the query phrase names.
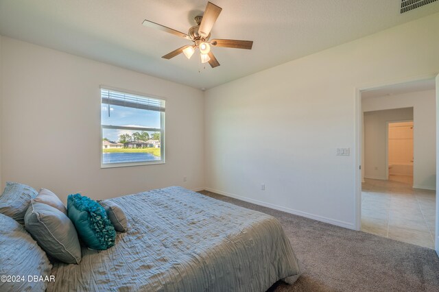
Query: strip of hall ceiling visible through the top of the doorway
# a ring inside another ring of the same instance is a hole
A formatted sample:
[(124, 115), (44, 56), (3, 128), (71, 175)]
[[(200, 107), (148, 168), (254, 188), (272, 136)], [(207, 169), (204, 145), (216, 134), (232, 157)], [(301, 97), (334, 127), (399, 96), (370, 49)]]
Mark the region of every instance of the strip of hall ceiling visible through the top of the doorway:
[(401, 95), (403, 93), (417, 93), (418, 91), (434, 90), (436, 82), (434, 79), (419, 80), (403, 84), (383, 86), (381, 88), (365, 90), (361, 92), (362, 98), (383, 97), (386, 95)]

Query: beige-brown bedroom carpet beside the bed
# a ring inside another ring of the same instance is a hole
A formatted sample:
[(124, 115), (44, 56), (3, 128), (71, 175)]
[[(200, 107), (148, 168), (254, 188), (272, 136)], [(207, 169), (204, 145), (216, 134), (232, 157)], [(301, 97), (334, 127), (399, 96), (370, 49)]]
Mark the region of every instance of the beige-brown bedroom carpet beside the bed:
[(295, 284), (278, 281), (269, 291), (439, 291), (439, 259), (434, 250), (200, 193), (281, 222), (303, 273)]

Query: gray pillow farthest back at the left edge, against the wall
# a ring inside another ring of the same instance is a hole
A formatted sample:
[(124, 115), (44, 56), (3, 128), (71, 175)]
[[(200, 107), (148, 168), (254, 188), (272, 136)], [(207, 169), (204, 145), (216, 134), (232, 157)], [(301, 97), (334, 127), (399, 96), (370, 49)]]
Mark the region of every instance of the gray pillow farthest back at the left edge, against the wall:
[(11, 217), (24, 226), (25, 213), (29, 202), (38, 194), (34, 188), (17, 182), (6, 182), (0, 196), (0, 213)]

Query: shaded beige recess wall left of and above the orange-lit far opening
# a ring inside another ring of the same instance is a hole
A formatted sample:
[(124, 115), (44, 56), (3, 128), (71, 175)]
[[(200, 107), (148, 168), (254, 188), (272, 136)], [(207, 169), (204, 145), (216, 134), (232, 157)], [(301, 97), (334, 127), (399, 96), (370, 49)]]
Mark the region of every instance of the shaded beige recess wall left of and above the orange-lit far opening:
[(413, 119), (413, 108), (364, 112), (364, 177), (387, 180), (385, 149), (388, 121)]

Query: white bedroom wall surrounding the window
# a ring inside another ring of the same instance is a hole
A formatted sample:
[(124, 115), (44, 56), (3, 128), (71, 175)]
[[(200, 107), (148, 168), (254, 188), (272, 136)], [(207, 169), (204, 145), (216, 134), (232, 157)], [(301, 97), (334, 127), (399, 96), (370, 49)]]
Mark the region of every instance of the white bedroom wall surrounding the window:
[[(3, 37), (1, 182), (98, 199), (204, 186), (201, 90)], [(100, 85), (164, 97), (166, 164), (100, 168)], [(183, 182), (187, 176), (187, 182)]]

